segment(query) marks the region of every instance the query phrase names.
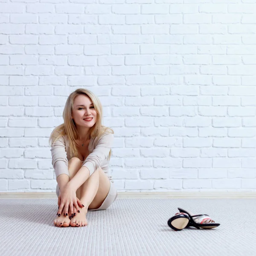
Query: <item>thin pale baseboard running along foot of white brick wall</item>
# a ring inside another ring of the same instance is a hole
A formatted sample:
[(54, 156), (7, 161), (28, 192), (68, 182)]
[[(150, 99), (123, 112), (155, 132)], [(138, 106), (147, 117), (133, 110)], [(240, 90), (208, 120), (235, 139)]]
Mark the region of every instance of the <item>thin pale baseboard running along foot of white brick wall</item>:
[[(256, 198), (256, 192), (118, 192), (117, 198)], [(57, 199), (55, 192), (0, 192), (0, 199)]]

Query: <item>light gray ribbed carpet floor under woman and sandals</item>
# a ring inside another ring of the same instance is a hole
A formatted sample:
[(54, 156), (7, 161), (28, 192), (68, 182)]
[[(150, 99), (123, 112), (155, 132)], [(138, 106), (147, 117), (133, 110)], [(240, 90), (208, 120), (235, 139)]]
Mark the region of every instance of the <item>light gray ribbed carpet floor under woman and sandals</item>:
[[(177, 207), (221, 225), (174, 231)], [(256, 255), (256, 199), (117, 198), (88, 212), (87, 227), (55, 227), (57, 199), (1, 199), (0, 209), (1, 256)]]

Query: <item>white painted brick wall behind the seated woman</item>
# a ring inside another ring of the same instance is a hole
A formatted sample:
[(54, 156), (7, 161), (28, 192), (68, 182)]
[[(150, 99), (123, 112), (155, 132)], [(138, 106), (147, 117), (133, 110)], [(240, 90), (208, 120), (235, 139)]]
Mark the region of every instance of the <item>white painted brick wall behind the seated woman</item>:
[(50, 192), (86, 87), (119, 191), (256, 191), (256, 0), (0, 0), (0, 192)]

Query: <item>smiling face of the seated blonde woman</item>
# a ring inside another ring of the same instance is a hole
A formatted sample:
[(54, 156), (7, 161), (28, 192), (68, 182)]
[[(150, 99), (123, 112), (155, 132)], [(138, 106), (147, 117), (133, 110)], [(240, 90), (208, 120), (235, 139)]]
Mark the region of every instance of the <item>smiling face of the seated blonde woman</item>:
[(96, 123), (97, 112), (94, 109), (93, 102), (86, 95), (78, 95), (74, 99), (74, 109), (72, 118), (76, 125), (90, 128)]

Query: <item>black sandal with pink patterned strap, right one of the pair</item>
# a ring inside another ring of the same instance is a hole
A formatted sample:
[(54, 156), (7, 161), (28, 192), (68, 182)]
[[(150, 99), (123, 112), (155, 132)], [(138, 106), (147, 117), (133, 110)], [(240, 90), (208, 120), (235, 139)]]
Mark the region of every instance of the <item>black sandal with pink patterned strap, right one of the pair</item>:
[(189, 212), (185, 211), (178, 207), (180, 212), (185, 212), (189, 216), (189, 223), (186, 227), (196, 227), (197, 229), (204, 228), (204, 229), (211, 229), (218, 227), (220, 224), (215, 223), (208, 214), (198, 214), (198, 215), (191, 215)]

